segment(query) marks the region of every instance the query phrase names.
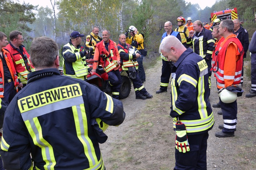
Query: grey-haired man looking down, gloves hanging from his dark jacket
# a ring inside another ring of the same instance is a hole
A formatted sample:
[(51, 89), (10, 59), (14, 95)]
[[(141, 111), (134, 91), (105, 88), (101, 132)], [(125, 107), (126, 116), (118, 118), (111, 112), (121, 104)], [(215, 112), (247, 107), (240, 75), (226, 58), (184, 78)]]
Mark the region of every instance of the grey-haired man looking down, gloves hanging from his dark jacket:
[(167, 36), (159, 53), (174, 62), (171, 81), (171, 112), (176, 130), (174, 170), (207, 169), (208, 131), (214, 118), (209, 97), (205, 59), (186, 49), (175, 36)]

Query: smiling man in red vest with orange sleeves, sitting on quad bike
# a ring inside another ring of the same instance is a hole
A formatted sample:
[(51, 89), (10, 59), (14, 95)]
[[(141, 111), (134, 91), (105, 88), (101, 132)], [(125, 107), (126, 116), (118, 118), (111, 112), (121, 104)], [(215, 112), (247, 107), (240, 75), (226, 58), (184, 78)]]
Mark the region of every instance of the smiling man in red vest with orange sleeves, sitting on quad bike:
[(107, 89), (111, 88), (112, 97), (114, 99), (119, 99), (119, 92), (121, 87), (121, 75), (119, 72), (120, 56), (116, 43), (110, 40), (109, 37), (110, 32), (108, 30), (102, 31), (103, 40), (95, 46), (92, 72), (96, 72), (97, 65), (101, 64), (109, 76)]

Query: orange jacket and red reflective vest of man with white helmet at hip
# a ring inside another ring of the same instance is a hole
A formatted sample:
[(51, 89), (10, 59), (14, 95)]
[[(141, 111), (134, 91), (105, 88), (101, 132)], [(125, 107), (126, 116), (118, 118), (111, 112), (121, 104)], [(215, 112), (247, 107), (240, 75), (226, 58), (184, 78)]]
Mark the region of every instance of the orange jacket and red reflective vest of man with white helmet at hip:
[[(228, 48), (233, 44), (235, 47), (234, 52), (229, 52)], [(217, 63), (219, 63), (219, 69), (215, 73), (217, 80), (217, 88), (238, 85), (241, 82), (242, 67), (243, 67), (243, 46), (236, 35), (232, 34), (228, 36), (223, 42), (221, 42), (217, 57), (214, 58), (213, 70), (217, 70)], [(235, 53), (235, 56), (232, 54)], [(232, 55), (232, 56), (231, 56)]]

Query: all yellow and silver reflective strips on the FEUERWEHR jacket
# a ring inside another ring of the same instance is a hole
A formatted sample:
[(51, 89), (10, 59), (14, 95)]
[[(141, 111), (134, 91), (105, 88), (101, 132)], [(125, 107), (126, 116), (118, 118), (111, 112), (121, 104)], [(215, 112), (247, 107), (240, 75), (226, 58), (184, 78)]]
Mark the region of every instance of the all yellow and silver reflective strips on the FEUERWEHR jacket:
[[(42, 127), (38, 116), (53, 111), (71, 107), (76, 133), (83, 144), (84, 153), (89, 161), (90, 170), (103, 166), (102, 158), (98, 161), (91, 139), (88, 137), (87, 115), (83, 103), (82, 91), (79, 84), (72, 84), (42, 91), (18, 100), (19, 111), (25, 122), (34, 144), (41, 148), (42, 158), (45, 161), (44, 169), (53, 170), (56, 165), (53, 148), (44, 139)], [(40, 99), (39, 99), (40, 98)], [(107, 95), (106, 111), (113, 112), (113, 101)], [(1, 147), (8, 150), (8, 144), (1, 144)], [(89, 170), (88, 169), (88, 170)]]

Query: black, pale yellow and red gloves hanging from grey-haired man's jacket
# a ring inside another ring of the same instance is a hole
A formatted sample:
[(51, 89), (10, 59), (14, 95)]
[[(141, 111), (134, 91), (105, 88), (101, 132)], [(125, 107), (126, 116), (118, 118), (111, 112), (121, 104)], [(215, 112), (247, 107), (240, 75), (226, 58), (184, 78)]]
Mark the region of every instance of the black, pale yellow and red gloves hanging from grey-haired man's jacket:
[(186, 126), (181, 122), (176, 123), (175, 148), (178, 149), (179, 152), (183, 153), (190, 151), (189, 142), (187, 140)]

